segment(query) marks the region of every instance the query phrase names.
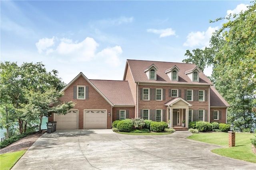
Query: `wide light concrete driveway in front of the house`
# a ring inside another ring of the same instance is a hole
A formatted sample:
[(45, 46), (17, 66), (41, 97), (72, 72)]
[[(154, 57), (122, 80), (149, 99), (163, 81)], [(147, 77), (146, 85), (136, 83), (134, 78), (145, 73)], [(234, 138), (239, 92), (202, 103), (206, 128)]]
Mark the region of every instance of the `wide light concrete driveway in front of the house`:
[(57, 130), (43, 134), (12, 170), (246, 169), (256, 164), (216, 155), (220, 148), (187, 139), (188, 131), (134, 136), (104, 130)]

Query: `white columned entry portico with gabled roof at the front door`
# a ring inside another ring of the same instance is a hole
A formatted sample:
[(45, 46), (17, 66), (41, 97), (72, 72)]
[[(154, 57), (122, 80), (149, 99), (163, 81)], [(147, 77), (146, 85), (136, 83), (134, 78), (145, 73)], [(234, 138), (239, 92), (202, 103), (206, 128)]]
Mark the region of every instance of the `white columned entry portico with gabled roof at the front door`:
[[(185, 127), (188, 128), (188, 109), (192, 105), (185, 101), (184, 99), (178, 97), (168, 101), (165, 106), (169, 110), (169, 114), (167, 116), (168, 120), (170, 120), (170, 127), (180, 126), (180, 122), (185, 120)], [(185, 109), (185, 117), (184, 115)]]

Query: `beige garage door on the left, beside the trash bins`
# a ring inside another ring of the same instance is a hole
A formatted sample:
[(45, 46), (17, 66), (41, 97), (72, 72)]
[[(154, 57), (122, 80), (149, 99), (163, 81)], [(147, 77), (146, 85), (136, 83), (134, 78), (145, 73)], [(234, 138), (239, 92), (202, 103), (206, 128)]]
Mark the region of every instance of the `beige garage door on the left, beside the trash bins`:
[(56, 129), (77, 129), (78, 111), (68, 111), (66, 115), (55, 115)]

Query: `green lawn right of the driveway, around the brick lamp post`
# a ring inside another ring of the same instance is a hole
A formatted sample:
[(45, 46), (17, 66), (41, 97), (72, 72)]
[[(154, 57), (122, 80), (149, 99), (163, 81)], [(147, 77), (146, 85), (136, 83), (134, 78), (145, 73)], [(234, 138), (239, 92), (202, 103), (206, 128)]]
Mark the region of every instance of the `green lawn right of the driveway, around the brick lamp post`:
[(200, 142), (226, 146), (228, 148), (218, 148), (211, 151), (213, 153), (226, 156), (229, 158), (256, 163), (256, 154), (254, 154), (252, 151), (252, 143), (250, 140), (250, 138), (253, 137), (253, 134), (236, 133), (235, 147), (228, 147), (228, 133), (224, 132), (197, 133), (193, 134), (192, 136), (189, 136), (188, 138)]

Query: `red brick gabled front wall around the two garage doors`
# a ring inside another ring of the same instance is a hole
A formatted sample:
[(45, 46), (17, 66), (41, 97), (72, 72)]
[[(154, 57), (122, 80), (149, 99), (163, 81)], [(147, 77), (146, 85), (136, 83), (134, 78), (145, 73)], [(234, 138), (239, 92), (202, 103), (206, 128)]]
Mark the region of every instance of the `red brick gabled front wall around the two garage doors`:
[[(73, 86), (78, 85), (89, 87), (89, 99), (73, 99)], [(111, 113), (111, 105), (84, 79), (84, 77), (82, 77), (82, 75), (64, 91), (64, 96), (60, 100), (63, 102), (73, 101), (76, 103), (75, 107), (72, 109), (78, 109), (78, 129), (84, 129), (84, 109), (102, 109), (107, 110), (106, 114)], [(50, 119), (53, 119), (53, 117), (50, 117)], [(107, 128), (111, 128), (111, 126), (111, 117), (107, 115)]]

